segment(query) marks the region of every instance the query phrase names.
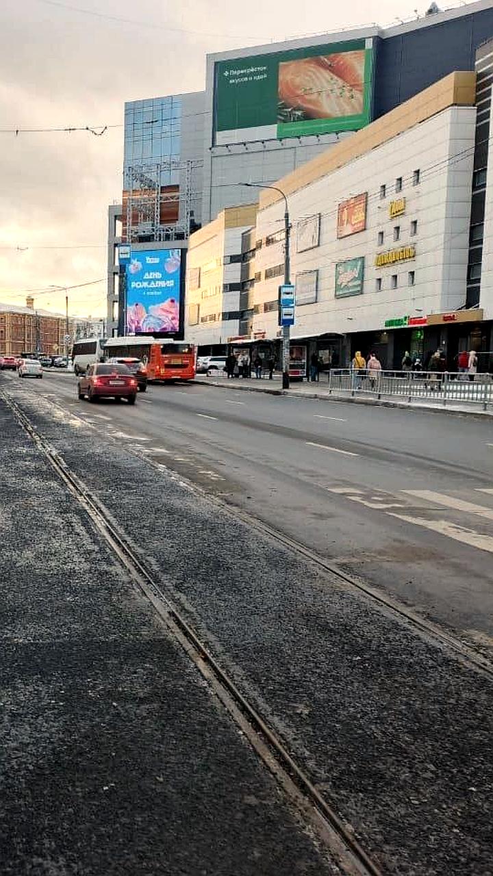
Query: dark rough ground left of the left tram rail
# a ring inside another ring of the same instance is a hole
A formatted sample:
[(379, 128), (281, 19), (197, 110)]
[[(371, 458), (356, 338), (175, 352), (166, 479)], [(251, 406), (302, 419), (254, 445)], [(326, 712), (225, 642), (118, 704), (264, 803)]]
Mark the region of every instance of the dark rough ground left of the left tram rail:
[(337, 876), (0, 399), (2, 876)]

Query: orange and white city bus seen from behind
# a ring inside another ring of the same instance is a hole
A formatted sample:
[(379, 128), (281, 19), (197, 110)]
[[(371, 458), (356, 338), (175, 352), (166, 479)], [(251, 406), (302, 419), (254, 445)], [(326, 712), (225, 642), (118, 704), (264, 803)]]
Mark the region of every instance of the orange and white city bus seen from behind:
[(147, 368), (147, 380), (193, 380), (196, 349), (191, 343), (155, 337), (110, 337), (104, 344), (104, 358), (135, 357)]

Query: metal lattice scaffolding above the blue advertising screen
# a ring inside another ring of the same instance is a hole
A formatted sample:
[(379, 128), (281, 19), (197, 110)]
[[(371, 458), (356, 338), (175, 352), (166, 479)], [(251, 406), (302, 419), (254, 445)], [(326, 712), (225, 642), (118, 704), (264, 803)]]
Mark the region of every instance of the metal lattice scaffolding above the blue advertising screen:
[(202, 201), (202, 191), (196, 187), (196, 173), (203, 166), (202, 159), (128, 166), (122, 239), (127, 244), (186, 240), (196, 203)]

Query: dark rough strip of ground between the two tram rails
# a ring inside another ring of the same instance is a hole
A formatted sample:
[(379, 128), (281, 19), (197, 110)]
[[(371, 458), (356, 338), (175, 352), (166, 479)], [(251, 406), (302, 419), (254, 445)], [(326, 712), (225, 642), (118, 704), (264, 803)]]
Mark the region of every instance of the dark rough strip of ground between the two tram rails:
[(493, 873), (489, 680), (178, 477), (23, 406), (383, 872)]

